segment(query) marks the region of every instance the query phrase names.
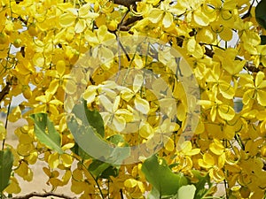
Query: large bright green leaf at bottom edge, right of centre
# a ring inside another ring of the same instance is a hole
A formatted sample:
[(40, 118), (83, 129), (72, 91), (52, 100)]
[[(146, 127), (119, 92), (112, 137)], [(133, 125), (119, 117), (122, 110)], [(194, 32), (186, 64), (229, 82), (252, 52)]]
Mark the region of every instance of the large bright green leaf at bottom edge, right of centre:
[(155, 155), (145, 160), (142, 165), (142, 172), (144, 172), (146, 180), (156, 189), (150, 193), (149, 198), (176, 195), (180, 187), (187, 185), (183, 173), (172, 172), (166, 161)]

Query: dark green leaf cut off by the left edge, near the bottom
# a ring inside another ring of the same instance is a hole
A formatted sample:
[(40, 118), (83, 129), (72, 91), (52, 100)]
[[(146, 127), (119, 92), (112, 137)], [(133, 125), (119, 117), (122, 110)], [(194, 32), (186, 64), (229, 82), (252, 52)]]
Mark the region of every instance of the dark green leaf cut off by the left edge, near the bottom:
[(12, 172), (13, 160), (11, 149), (0, 150), (0, 193), (10, 183), (9, 179)]

